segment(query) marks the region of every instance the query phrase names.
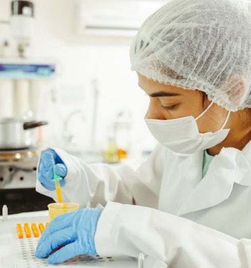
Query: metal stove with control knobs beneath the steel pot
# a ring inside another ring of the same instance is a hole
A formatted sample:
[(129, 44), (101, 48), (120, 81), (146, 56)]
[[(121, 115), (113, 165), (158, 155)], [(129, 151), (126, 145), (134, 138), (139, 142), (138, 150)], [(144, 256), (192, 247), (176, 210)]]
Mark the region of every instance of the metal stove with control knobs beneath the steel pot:
[(54, 202), (35, 192), (38, 155), (35, 147), (0, 150), (0, 204), (8, 205), (9, 214), (46, 210)]

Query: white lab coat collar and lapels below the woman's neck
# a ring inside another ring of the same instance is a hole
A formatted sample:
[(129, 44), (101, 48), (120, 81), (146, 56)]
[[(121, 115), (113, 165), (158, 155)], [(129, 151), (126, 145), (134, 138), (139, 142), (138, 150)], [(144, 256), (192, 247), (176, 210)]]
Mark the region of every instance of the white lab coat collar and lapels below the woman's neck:
[(222, 148), (210, 163), (202, 179), (203, 151), (185, 158), (179, 165), (183, 177), (191, 184), (191, 193), (178, 210), (178, 215), (215, 206), (226, 200), (234, 183), (251, 186), (251, 142), (240, 151)]

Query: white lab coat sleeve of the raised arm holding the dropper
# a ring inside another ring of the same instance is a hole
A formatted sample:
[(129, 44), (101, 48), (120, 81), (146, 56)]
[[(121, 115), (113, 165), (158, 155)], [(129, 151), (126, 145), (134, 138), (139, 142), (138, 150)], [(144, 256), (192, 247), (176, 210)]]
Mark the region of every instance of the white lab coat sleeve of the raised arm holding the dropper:
[[(104, 163), (89, 165), (61, 149), (52, 149), (68, 169), (66, 184), (61, 187), (65, 202), (77, 202), (81, 207), (90, 202), (95, 207), (97, 204), (104, 206), (109, 201), (131, 204), (134, 198), (139, 204), (148, 206), (152, 202), (152, 205), (157, 206), (159, 180), (156, 178), (161, 177), (164, 161), (164, 152), (159, 147), (136, 171), (126, 165), (118, 168)], [(56, 200), (55, 191), (47, 190), (38, 181), (36, 190)]]

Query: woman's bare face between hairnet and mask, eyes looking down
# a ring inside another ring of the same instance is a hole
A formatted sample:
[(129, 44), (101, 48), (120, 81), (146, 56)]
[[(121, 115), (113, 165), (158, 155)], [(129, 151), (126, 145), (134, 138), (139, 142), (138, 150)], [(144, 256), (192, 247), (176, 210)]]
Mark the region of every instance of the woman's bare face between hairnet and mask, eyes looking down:
[[(138, 74), (139, 86), (147, 93), (150, 104), (146, 118), (168, 120), (193, 116), (196, 118), (210, 104), (203, 103), (199, 90), (188, 90), (171, 85), (160, 84)], [(201, 118), (197, 120), (200, 133), (219, 130), (226, 118), (227, 111), (214, 104)]]

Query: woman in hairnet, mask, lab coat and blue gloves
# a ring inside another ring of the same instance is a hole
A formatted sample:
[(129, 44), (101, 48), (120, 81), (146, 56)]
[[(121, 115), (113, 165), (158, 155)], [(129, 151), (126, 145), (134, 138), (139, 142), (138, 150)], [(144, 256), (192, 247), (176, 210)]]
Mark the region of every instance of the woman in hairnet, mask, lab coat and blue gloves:
[(104, 208), (54, 219), (36, 256), (66, 244), (49, 263), (142, 252), (170, 267), (251, 267), (251, 3), (172, 0), (130, 56), (159, 144), (136, 171), (43, 151), (38, 192), (56, 198), (56, 164), (66, 201)]

